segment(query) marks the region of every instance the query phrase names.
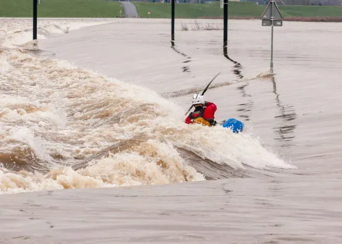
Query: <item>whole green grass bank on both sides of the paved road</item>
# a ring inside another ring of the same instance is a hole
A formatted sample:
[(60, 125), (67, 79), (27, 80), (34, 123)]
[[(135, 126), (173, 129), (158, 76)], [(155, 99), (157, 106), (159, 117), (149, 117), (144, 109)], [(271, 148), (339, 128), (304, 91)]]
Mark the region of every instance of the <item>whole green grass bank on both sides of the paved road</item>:
[[(0, 17), (32, 17), (33, 0), (0, 0)], [(181, 0), (180, 0), (181, 1)], [(171, 3), (136, 2), (142, 18), (171, 18)], [(283, 17), (340, 17), (342, 6), (278, 6)], [(253, 2), (229, 2), (229, 17), (260, 17), (265, 5)], [(117, 1), (41, 0), (38, 17), (115, 18), (125, 16)], [(150, 15), (148, 12), (150, 11)], [(176, 3), (176, 18), (219, 18), (223, 9), (218, 1), (208, 4)]]

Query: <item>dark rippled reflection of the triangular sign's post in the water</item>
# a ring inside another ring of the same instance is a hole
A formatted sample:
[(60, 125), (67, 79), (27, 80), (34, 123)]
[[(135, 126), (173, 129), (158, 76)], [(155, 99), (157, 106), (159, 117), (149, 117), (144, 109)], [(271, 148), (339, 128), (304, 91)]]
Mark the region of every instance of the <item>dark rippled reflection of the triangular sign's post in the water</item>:
[(279, 99), (279, 94), (277, 93), (277, 83), (274, 76), (272, 76), (273, 83), (273, 93), (276, 95), (276, 103), (279, 108), (279, 115), (274, 118), (281, 119), (281, 126), (273, 127), (274, 132), (278, 135), (275, 140), (282, 142), (282, 147), (292, 146), (290, 143), (294, 138), (294, 131), (296, 124), (294, 120), (297, 119), (297, 114), (292, 105), (282, 105)]

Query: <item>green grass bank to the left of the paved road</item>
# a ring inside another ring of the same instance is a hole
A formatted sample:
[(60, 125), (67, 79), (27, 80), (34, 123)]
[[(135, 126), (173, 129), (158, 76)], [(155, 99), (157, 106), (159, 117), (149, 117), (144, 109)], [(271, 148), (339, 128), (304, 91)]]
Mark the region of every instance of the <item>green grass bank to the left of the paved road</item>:
[[(32, 17), (32, 0), (0, 0), (0, 17)], [(106, 0), (40, 0), (38, 17), (113, 18), (122, 15), (120, 3)]]

